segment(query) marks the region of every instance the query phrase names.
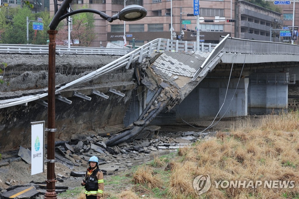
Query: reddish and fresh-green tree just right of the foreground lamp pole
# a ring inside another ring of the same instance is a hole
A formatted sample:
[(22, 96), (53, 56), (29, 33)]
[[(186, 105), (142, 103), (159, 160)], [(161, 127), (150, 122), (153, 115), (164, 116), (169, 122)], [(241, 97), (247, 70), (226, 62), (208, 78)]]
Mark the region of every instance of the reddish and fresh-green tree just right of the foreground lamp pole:
[[(82, 8), (88, 8), (83, 6)], [(96, 39), (94, 32), (94, 14), (93, 13), (79, 13), (72, 16), (73, 30), (71, 31), (71, 44), (75, 46), (89, 46), (91, 42)], [(64, 26), (60, 28), (57, 34), (57, 45), (67, 45), (68, 40), (68, 26), (66, 20)], [(79, 41), (79, 44), (75, 44)]]

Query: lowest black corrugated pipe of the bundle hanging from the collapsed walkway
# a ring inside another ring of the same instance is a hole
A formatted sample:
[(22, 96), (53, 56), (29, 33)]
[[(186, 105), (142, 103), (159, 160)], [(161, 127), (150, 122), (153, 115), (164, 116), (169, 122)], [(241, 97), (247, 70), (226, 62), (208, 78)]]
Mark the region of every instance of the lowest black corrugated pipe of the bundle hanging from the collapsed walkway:
[(166, 107), (166, 105), (169, 103), (169, 100), (171, 99), (171, 97), (168, 97), (165, 102), (163, 102), (163, 104), (156, 110), (154, 111), (155, 113), (152, 114), (151, 117), (149, 117), (149, 119), (147, 121), (145, 121), (144, 125), (142, 126), (134, 126), (134, 128), (132, 129), (132, 133), (131, 134), (128, 134), (126, 135), (125, 137), (119, 139), (119, 140), (116, 140), (115, 142), (111, 143), (111, 146), (114, 146), (114, 145), (117, 145), (119, 143), (122, 143), (122, 142), (130, 142), (132, 141), (147, 125), (149, 125), (149, 123), (155, 119), (155, 117), (163, 110), (163, 108)]

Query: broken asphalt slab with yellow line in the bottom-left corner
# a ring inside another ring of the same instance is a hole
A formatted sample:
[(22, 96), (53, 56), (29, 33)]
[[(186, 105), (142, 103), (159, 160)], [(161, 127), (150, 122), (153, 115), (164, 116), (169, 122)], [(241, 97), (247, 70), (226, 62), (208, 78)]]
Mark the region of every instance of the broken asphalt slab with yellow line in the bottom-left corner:
[(40, 192), (37, 191), (34, 186), (25, 186), (25, 187), (18, 187), (8, 192), (4, 192), (3, 194), (1, 194), (1, 196), (4, 198), (20, 199), (20, 198), (31, 198), (39, 194)]

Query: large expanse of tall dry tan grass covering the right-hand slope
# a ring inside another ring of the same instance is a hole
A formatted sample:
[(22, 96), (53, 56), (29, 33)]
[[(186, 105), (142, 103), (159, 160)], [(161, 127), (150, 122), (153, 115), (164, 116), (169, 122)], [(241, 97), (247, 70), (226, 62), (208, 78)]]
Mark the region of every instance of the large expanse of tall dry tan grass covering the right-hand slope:
[[(247, 117), (230, 133), (218, 132), (215, 139), (179, 149), (182, 162), (172, 172), (168, 194), (193, 198), (193, 179), (209, 174), (212, 186), (206, 198), (299, 198), (298, 121), (298, 112), (268, 115), (258, 123)], [(214, 180), (295, 180), (295, 187), (216, 189)]]

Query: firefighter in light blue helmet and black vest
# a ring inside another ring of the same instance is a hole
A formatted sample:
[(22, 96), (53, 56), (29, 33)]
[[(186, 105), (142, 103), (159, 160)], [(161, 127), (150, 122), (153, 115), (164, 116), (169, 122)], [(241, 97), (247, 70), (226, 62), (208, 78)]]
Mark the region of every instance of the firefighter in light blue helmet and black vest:
[(95, 156), (89, 158), (85, 178), (81, 185), (84, 186), (86, 199), (100, 199), (103, 196), (103, 172), (99, 169), (99, 159)]

